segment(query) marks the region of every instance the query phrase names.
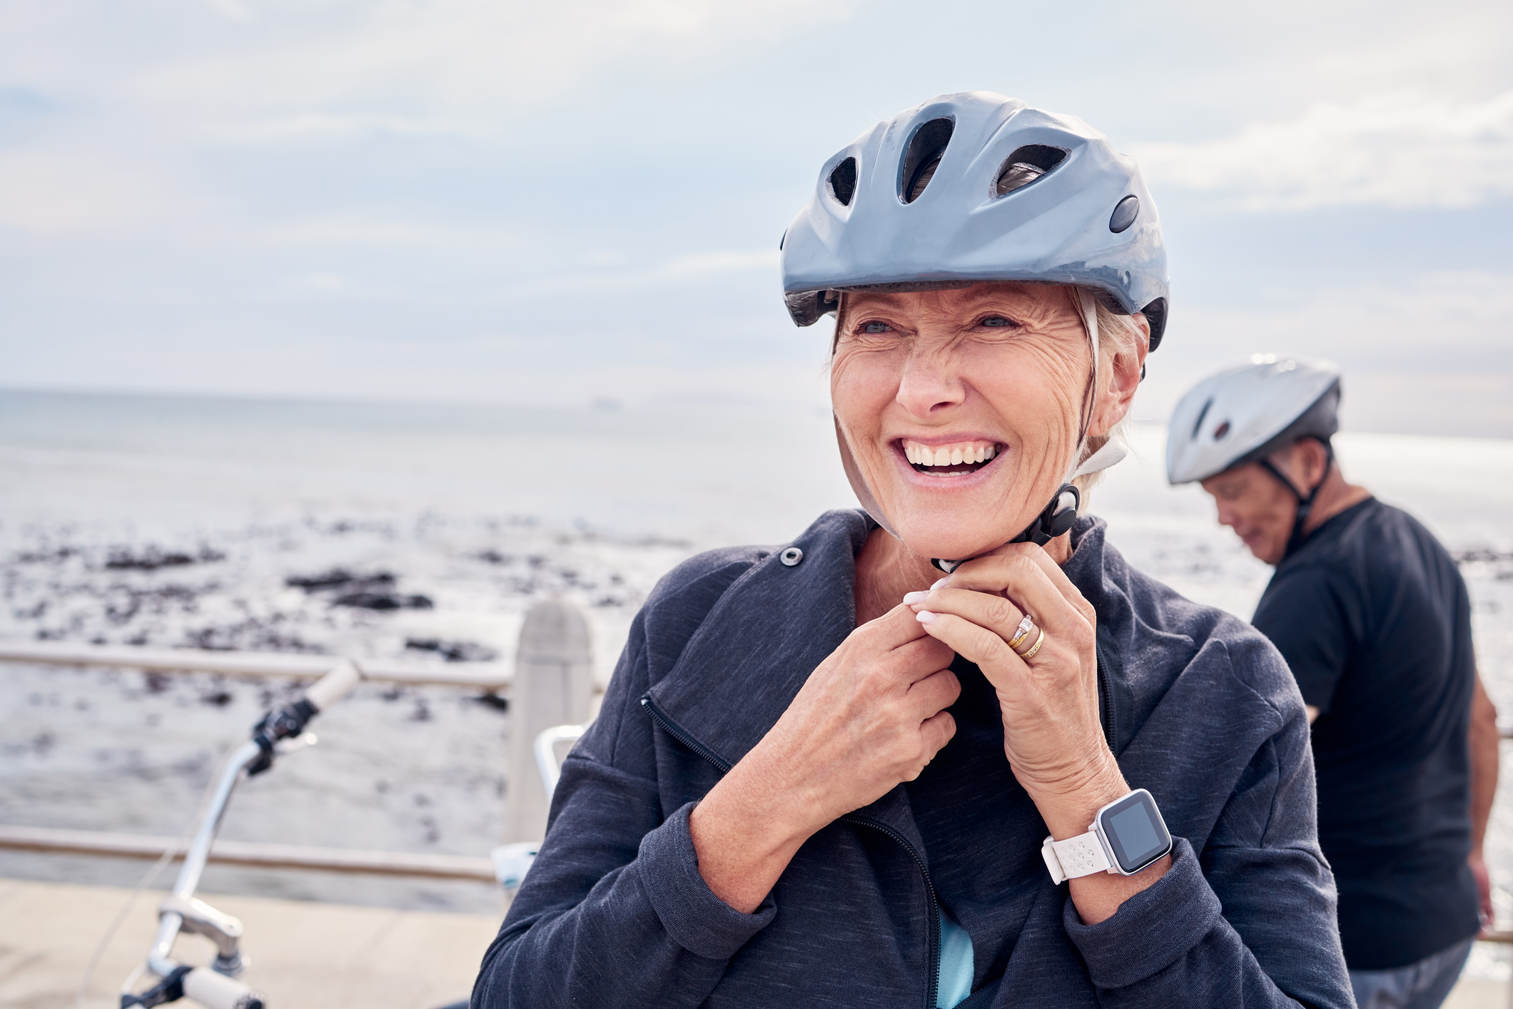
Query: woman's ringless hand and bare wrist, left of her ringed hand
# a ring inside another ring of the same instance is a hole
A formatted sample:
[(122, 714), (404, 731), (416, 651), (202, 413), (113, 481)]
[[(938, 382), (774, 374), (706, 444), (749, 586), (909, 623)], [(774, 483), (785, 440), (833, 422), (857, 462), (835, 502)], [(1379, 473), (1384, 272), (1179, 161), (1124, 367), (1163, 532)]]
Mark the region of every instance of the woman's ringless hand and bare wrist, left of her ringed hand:
[(952, 658), (905, 605), (852, 631), (693, 811), (710, 889), (749, 914), (816, 830), (918, 778), (956, 732)]

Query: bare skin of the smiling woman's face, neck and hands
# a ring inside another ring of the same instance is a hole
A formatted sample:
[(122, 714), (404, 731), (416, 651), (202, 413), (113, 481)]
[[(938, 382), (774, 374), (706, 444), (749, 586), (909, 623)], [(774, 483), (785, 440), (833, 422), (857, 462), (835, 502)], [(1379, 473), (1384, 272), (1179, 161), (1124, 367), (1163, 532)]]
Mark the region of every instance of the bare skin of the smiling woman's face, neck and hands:
[[(846, 295), (835, 418), (899, 539), (873, 532), (856, 563), (858, 628), (690, 817), (699, 873), (720, 899), (750, 912), (814, 832), (918, 776), (955, 734), (953, 654), (997, 690), (1005, 758), (1053, 837), (1083, 834), (1129, 791), (1098, 725), (1097, 614), (1059, 567), (1068, 537), (1006, 542), (1061, 486), (1079, 427), (1103, 434), (1124, 418), (1144, 357), (1117, 355), (1094, 390), (1064, 287)], [(905, 440), (991, 442), (999, 454), (974, 470), (920, 472)], [(937, 581), (930, 557), (976, 560)], [(1026, 611), (1047, 635), (1032, 660), (1009, 647)], [(1103, 921), (1168, 867), (1074, 879), (1071, 896), (1085, 921)]]

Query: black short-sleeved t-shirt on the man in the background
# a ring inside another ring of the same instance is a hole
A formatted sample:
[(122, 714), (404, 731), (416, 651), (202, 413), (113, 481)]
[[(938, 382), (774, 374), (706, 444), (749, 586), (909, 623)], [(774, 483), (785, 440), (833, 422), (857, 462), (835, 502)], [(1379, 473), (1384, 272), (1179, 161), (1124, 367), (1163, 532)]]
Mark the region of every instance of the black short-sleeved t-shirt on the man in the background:
[(1475, 935), (1475, 657), (1466, 584), (1445, 548), (1368, 498), (1277, 566), (1254, 623), (1319, 709), (1319, 844), (1347, 965), (1406, 967)]

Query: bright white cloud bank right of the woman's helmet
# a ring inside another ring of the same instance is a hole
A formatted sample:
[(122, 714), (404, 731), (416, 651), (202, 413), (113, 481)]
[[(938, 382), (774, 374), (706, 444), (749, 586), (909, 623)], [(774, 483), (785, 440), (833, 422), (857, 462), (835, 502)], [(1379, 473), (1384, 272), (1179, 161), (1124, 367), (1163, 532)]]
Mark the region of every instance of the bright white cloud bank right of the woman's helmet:
[(1513, 91), (1471, 103), (1413, 92), (1318, 103), (1224, 139), (1133, 153), (1157, 191), (1212, 192), (1245, 210), (1469, 207), (1513, 195)]

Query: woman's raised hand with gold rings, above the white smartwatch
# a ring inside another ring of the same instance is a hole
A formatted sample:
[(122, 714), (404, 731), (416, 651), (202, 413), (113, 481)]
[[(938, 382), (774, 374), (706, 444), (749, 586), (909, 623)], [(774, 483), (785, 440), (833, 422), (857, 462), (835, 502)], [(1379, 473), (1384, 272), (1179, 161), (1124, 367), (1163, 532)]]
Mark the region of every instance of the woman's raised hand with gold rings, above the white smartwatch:
[[(1085, 834), (1097, 811), (1129, 793), (1098, 722), (1097, 614), (1050, 555), (1011, 543), (968, 561), (927, 593), (909, 593), (930, 637), (977, 664), (999, 696), (1003, 752), (1052, 837)], [(1018, 650), (1020, 620), (1035, 623)], [(1030, 652), (1044, 631), (1033, 657)], [(1071, 896), (1083, 921), (1101, 921), (1162, 874), (1083, 876)]]

